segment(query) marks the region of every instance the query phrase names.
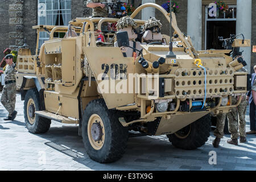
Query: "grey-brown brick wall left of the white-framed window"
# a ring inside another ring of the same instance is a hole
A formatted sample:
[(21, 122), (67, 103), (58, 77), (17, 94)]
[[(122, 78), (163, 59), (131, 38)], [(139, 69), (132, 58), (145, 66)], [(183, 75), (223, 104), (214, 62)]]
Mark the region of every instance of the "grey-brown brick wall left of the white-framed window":
[[(22, 2), (22, 3), (21, 3)], [(14, 5), (22, 7), (12, 8)], [(12, 7), (11, 7), (12, 6)], [(5, 48), (18, 48), (23, 45), (23, 39), (27, 39), (27, 44), (31, 48), (31, 53), (35, 53), (36, 47), (36, 31), (32, 30), (32, 26), (37, 24), (37, 1), (3, 1), (0, 3), (0, 59), (2, 60)], [(16, 20), (14, 20), (16, 19)], [(21, 22), (18, 19), (22, 19)]]

